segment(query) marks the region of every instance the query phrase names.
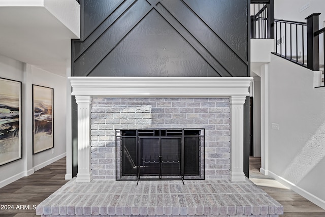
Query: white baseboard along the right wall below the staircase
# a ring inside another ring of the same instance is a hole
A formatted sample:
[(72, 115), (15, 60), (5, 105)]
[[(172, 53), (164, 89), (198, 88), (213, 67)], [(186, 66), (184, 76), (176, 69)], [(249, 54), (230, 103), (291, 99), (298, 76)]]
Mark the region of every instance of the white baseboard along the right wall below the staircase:
[(324, 200), (316, 197), (315, 195), (313, 195), (313, 194), (307, 192), (306, 190), (298, 187), (296, 184), (284, 179), (281, 176), (278, 176), (277, 174), (275, 174), (275, 173), (273, 173), (271, 171), (267, 171), (267, 172), (268, 172), (268, 175), (271, 178), (274, 178), (275, 180), (277, 180), (278, 182), (283, 184), (285, 187), (289, 188), (290, 190), (293, 190), (297, 194), (303, 196), (304, 198), (306, 198), (307, 200), (309, 200), (312, 203), (316, 204), (317, 206), (321, 207), (322, 209), (325, 209), (325, 201)]

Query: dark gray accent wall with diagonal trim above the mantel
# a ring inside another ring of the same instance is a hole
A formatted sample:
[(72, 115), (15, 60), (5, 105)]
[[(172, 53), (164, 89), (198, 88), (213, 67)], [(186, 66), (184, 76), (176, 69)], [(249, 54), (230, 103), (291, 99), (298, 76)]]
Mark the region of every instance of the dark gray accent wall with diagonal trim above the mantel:
[(73, 76), (248, 76), (248, 0), (83, 0)]

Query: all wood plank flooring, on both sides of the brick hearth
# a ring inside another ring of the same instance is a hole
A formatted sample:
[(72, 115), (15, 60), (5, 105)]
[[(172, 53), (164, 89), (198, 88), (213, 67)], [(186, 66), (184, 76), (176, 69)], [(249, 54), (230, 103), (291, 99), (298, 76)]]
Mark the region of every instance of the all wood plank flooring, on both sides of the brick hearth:
[[(279, 182), (259, 173), (261, 158), (250, 158), (250, 179), (284, 206), (285, 217), (325, 217), (325, 210), (309, 202), (305, 198), (287, 189)], [(37, 216), (33, 205), (38, 205), (45, 198), (59, 189), (68, 180), (66, 174), (66, 158), (62, 158), (49, 166), (23, 177), (0, 189), (0, 217)], [(4, 207), (7, 205), (7, 207)], [(8, 209), (13, 205), (14, 209)], [(23, 209), (17, 209), (22, 207)], [(30, 209), (28, 209), (30, 206)], [(2, 207), (0, 207), (2, 208)]]

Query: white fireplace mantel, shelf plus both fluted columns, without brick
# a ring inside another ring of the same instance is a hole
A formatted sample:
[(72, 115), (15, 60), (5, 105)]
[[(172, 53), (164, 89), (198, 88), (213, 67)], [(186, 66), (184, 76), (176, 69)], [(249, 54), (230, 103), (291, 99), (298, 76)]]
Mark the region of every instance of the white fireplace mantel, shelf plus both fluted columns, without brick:
[(78, 104), (77, 181), (90, 182), (90, 104), (92, 97), (229, 97), (232, 181), (243, 172), (244, 103), (251, 77), (69, 77)]

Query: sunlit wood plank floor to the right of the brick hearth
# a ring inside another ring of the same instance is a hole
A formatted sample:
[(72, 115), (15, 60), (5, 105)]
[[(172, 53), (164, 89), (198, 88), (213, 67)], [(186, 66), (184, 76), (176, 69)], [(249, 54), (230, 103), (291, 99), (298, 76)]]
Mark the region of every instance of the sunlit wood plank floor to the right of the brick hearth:
[(285, 217), (324, 217), (325, 210), (259, 172), (261, 158), (249, 159), (249, 175), (258, 187), (283, 205)]

